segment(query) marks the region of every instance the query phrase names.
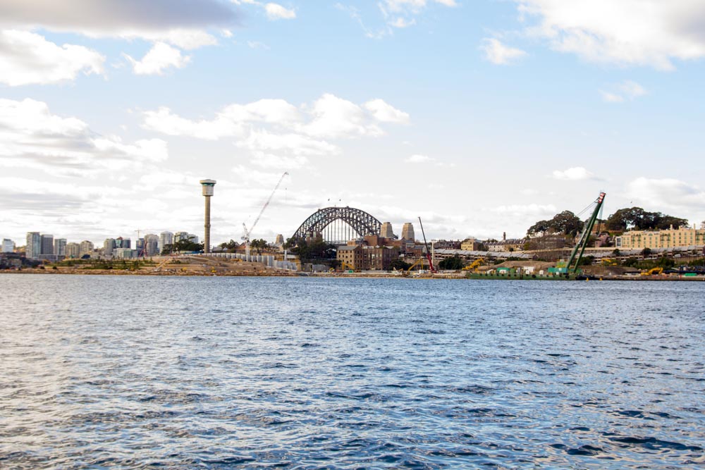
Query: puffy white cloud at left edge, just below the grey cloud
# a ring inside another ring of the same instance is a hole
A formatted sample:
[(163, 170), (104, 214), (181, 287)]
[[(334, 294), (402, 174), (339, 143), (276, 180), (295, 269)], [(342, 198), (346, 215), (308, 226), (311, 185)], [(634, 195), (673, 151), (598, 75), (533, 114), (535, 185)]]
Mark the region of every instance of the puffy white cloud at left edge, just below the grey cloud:
[(59, 47), (32, 32), (0, 31), (0, 82), (12, 87), (75, 80), (81, 72), (100, 75), (104, 61), (86, 47)]

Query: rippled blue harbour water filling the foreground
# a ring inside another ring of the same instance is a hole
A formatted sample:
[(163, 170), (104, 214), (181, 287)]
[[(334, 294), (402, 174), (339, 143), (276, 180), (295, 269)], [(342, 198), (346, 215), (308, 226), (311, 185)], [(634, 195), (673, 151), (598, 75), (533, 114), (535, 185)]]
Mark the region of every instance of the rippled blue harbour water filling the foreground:
[(0, 468), (694, 468), (704, 289), (0, 275)]

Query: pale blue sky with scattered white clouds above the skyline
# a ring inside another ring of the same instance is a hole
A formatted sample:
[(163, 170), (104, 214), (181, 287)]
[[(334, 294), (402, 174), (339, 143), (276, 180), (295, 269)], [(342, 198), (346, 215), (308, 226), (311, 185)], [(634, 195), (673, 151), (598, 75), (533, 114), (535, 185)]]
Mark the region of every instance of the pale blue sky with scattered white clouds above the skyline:
[[(705, 221), (702, 0), (3, 0), (0, 237)], [(418, 235), (418, 234), (417, 234)]]

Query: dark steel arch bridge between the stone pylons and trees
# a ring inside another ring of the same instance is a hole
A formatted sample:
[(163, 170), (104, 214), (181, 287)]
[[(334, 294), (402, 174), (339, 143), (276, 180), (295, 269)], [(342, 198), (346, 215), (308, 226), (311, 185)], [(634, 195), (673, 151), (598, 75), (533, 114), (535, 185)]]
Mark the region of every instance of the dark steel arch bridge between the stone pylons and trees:
[(320, 233), (326, 242), (345, 245), (348, 240), (365, 235), (379, 235), (381, 222), (354, 207), (326, 207), (309, 216), (293, 237), (309, 237)]

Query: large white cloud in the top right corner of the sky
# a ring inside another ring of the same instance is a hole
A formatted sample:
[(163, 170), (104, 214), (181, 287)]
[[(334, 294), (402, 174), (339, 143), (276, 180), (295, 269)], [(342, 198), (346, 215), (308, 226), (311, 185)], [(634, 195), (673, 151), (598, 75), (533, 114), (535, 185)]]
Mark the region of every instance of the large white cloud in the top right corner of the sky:
[(705, 3), (701, 0), (515, 0), (529, 28), (557, 51), (587, 61), (673, 68), (705, 57)]

